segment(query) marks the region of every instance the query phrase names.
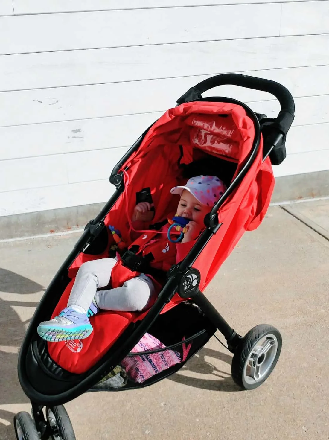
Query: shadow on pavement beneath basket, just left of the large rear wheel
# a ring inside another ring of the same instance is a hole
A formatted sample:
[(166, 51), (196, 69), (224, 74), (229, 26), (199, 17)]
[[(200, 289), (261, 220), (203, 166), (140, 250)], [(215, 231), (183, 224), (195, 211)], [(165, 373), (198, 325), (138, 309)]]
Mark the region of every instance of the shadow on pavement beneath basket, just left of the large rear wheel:
[[(194, 355), (179, 372), (173, 374), (168, 379), (174, 382), (189, 385), (194, 388), (208, 389), (214, 391), (241, 391), (241, 388), (236, 385), (230, 375), (226, 371), (219, 370), (206, 357), (218, 359), (226, 362), (229, 365), (232, 361), (232, 355), (212, 350), (211, 348), (202, 348), (196, 355)], [(197, 375), (207, 374), (212, 375), (213, 379), (195, 378), (190, 375), (181, 374), (180, 372), (192, 372)]]

